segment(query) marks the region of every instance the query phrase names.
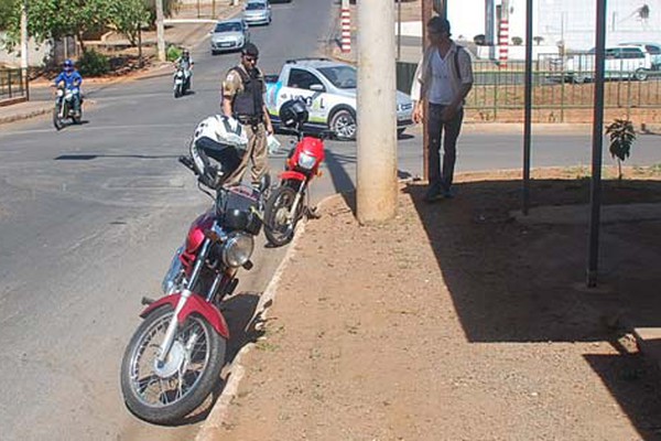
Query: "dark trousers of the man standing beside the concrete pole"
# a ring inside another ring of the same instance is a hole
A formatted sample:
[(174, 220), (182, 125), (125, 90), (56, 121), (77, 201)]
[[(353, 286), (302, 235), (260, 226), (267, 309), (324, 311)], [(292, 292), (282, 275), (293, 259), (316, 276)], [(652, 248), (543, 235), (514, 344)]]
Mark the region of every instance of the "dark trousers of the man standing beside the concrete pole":
[[(457, 138), (462, 130), (464, 109), (459, 109), (449, 121), (442, 114), (445, 106), (430, 104), (427, 119), (430, 187), (435, 191), (449, 191), (457, 159)], [(443, 132), (445, 131), (445, 136)], [(441, 168), (441, 139), (443, 138), (443, 169)]]

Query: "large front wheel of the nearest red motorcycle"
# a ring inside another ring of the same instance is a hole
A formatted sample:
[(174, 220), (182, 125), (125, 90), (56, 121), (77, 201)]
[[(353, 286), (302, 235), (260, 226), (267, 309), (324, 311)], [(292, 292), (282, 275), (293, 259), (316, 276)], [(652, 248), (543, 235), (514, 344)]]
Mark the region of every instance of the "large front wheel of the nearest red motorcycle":
[(165, 362), (159, 346), (174, 311), (151, 312), (140, 324), (121, 362), (121, 391), (129, 410), (144, 421), (173, 423), (195, 410), (220, 380), (227, 342), (199, 315), (180, 324)]

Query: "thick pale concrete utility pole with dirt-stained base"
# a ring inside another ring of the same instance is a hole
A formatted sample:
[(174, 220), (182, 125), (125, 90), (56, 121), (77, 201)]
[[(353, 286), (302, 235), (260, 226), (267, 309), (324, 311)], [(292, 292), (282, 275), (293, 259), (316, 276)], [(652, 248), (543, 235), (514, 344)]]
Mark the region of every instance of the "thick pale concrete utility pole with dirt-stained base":
[(356, 213), (361, 224), (397, 213), (394, 2), (359, 0), (358, 166)]

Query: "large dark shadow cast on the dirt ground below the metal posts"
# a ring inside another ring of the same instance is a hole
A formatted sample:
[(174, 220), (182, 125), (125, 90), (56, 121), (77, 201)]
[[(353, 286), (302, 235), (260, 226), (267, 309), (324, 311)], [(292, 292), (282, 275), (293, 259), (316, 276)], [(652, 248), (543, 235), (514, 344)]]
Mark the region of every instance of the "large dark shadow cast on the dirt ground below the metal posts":
[[(599, 277), (586, 288), (588, 226), (529, 225), (521, 182), (456, 185), (457, 196), (409, 193), (470, 342), (614, 342), (631, 327), (661, 326), (661, 219), (602, 225)], [(588, 180), (537, 180), (532, 206), (587, 204)], [(659, 203), (661, 182), (604, 182), (604, 204)], [(617, 348), (617, 346), (616, 346)], [(620, 348), (618, 348), (620, 351)], [(639, 353), (586, 356), (644, 439), (661, 431), (661, 376)], [(658, 437), (658, 438), (654, 438)]]

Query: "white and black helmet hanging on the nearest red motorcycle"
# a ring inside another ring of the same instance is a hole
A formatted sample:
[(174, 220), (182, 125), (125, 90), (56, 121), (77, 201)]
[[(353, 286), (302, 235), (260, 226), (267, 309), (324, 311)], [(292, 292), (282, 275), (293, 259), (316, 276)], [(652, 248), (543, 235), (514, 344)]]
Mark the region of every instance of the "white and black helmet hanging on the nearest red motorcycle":
[(191, 142), (191, 155), (201, 181), (218, 189), (237, 170), (247, 146), (248, 135), (234, 118), (215, 115), (199, 122)]

